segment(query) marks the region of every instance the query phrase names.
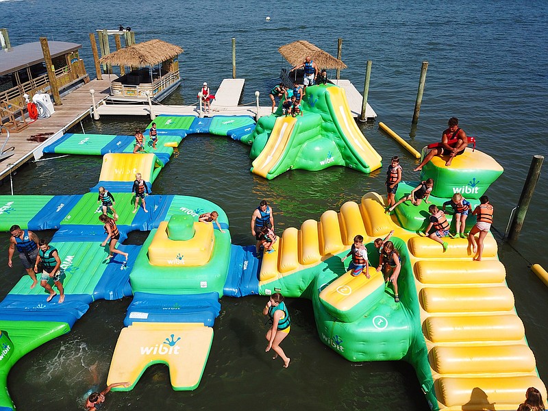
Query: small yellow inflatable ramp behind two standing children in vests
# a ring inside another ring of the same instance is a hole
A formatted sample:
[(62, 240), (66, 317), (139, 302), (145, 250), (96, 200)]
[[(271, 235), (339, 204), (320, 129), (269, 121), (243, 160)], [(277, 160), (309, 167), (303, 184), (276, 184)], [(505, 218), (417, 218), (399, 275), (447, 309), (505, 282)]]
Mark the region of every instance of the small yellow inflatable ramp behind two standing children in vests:
[(103, 155), (100, 182), (133, 182), (141, 173), (145, 182), (152, 183), (164, 165), (154, 154), (108, 153)]

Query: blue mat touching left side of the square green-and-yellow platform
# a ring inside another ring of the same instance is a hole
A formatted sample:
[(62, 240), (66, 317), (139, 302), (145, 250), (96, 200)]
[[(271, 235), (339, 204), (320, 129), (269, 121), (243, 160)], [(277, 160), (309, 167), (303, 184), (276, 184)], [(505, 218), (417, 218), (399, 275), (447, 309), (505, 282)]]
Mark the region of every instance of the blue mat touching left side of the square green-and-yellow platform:
[(133, 295), (132, 286), (129, 285), (129, 273), (135, 264), (139, 254), (140, 245), (119, 245), (117, 247), (125, 253), (129, 253), (127, 262), (124, 256), (114, 254), (107, 268), (103, 272), (101, 279), (93, 290), (93, 299), (114, 300)]

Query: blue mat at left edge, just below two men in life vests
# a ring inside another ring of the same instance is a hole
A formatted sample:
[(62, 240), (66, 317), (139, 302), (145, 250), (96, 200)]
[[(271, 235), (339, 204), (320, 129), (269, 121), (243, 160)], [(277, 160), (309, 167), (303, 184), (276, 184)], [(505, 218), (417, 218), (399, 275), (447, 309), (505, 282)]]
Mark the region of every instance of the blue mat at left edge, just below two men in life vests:
[[(37, 286), (39, 287), (39, 286)], [(59, 296), (49, 303), (48, 295), (8, 294), (0, 302), (0, 320), (9, 321), (56, 321), (72, 328), (77, 319), (86, 314), (92, 297), (86, 294), (65, 295), (60, 304)]]

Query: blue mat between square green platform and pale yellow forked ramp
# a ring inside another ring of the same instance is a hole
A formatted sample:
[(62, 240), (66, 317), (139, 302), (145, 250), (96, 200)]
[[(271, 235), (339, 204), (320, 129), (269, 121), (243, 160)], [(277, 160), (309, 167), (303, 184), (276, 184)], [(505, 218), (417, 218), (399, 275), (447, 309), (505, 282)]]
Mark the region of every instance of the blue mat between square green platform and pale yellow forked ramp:
[(212, 327), (219, 312), (221, 303), (217, 292), (194, 295), (136, 292), (127, 308), (124, 325), (128, 327), (135, 322), (203, 323)]

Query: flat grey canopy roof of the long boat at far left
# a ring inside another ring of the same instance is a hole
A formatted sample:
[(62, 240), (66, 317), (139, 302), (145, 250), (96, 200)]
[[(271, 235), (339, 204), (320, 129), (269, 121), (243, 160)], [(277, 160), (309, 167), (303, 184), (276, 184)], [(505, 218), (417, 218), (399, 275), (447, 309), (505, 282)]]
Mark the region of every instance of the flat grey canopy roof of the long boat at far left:
[[(81, 49), (82, 45), (73, 42), (49, 41), (51, 58)], [(44, 62), (44, 54), (39, 41), (25, 43), (0, 52), (0, 76), (13, 73), (25, 67)]]

